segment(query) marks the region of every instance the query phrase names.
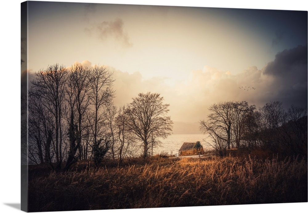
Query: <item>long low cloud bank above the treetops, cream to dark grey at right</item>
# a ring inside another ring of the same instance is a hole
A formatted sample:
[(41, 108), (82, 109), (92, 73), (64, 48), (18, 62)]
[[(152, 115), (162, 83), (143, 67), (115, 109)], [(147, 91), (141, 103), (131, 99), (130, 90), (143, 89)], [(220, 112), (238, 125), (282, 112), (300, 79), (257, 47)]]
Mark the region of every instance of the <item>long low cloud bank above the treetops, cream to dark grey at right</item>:
[[(83, 65), (91, 66), (88, 60)], [(141, 72), (128, 73), (106, 66), (115, 79), (117, 106), (126, 105), (140, 92), (157, 92), (170, 104), (173, 121), (197, 122), (206, 119), (208, 108), (221, 101), (247, 101), (257, 108), (270, 101), (282, 101), (285, 109), (291, 104), (307, 105), (307, 46), (279, 52), (274, 61), (258, 69), (248, 67), (241, 73), (205, 66), (192, 70), (188, 79), (145, 79)]]

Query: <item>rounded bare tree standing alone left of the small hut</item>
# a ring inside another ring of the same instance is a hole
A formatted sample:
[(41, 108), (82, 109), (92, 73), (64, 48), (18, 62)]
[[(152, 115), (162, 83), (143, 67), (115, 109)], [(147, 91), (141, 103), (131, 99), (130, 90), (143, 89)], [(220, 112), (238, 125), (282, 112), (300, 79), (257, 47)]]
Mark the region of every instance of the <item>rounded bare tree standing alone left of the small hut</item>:
[(163, 104), (163, 97), (158, 93), (140, 93), (128, 104), (126, 127), (135, 138), (143, 142), (143, 157), (148, 156), (150, 138), (166, 138), (171, 134), (172, 121), (168, 113), (169, 104)]

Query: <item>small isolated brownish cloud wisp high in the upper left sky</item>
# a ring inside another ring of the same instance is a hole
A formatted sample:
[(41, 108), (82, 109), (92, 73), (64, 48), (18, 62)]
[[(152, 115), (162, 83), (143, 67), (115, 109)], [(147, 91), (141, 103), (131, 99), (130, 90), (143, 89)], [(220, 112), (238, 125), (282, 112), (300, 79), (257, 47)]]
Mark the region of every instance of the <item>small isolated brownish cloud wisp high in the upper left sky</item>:
[(114, 39), (122, 44), (123, 47), (132, 47), (128, 34), (124, 31), (124, 23), (120, 18), (114, 21), (103, 21), (102, 23), (93, 25), (91, 28), (85, 28), (89, 35), (95, 35), (102, 41)]

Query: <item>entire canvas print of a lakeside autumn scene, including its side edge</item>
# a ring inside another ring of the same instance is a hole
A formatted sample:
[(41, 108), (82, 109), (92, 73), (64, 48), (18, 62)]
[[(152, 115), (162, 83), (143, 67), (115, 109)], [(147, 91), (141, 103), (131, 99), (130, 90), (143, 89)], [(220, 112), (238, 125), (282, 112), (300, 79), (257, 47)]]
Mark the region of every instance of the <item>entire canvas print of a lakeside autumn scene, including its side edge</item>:
[(23, 211), (307, 202), (307, 11), (27, 1), (21, 27)]

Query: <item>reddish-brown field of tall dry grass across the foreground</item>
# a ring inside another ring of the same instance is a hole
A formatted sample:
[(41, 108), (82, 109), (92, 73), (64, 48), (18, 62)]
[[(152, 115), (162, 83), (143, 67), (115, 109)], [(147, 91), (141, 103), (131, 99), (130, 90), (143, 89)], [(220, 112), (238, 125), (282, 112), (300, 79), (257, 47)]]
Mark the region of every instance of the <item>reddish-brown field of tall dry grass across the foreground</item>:
[(70, 171), (30, 168), (29, 211), (72, 211), (307, 202), (307, 160), (132, 159), (79, 162)]

